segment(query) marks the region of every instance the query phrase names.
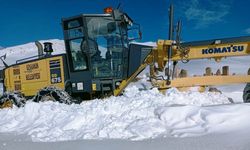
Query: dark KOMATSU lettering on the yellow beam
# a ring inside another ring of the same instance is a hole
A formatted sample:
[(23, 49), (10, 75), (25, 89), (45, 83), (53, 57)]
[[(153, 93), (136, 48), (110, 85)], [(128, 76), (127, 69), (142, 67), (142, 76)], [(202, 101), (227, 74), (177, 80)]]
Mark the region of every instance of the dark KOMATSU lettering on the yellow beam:
[(231, 53), (231, 52), (241, 52), (244, 50), (244, 46), (229, 46), (229, 47), (218, 47), (218, 48), (208, 48), (202, 49), (202, 54), (217, 54), (217, 53)]

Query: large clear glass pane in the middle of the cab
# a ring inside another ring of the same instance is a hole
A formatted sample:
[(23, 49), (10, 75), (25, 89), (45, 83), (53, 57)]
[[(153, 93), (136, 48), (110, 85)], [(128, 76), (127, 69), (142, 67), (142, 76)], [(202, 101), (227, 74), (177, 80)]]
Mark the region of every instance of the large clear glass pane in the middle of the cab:
[(88, 47), (94, 77), (122, 77), (123, 43), (111, 16), (86, 17)]

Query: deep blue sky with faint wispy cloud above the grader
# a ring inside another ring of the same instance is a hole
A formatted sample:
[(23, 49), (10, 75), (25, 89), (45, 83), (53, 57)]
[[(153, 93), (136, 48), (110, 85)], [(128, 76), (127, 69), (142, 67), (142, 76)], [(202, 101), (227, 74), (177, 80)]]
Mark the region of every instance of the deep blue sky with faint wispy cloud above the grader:
[(63, 39), (61, 18), (122, 9), (141, 24), (144, 41), (168, 37), (168, 7), (183, 21), (182, 40), (194, 41), (250, 35), (250, 1), (236, 0), (8, 0), (0, 4), (0, 45)]

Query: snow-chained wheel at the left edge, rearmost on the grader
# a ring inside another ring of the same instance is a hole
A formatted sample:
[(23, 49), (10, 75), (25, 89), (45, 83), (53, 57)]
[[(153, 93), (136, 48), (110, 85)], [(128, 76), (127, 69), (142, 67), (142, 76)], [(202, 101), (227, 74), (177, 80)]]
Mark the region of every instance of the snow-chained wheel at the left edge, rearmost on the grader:
[(0, 97), (0, 108), (12, 108), (24, 106), (26, 99), (20, 92), (5, 92)]

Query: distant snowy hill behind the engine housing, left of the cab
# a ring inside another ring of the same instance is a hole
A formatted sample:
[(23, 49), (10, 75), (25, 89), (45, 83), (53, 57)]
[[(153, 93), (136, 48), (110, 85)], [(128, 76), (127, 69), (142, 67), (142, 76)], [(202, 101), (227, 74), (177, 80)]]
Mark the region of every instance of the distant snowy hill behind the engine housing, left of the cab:
[[(52, 55), (65, 53), (65, 47), (64, 47), (64, 41), (59, 39), (51, 39), (51, 40), (41, 40), (39, 41), (41, 44), (44, 42), (51, 42), (53, 43), (53, 50), (54, 52)], [(16, 60), (31, 57), (31, 56), (37, 56), (38, 50), (35, 45), (35, 42), (18, 45), (18, 46), (12, 46), (5, 48), (4, 50), (0, 51), (0, 56), (3, 56), (6, 54), (6, 63), (8, 65), (14, 64)], [(0, 66), (3, 66), (2, 62), (0, 62)]]

